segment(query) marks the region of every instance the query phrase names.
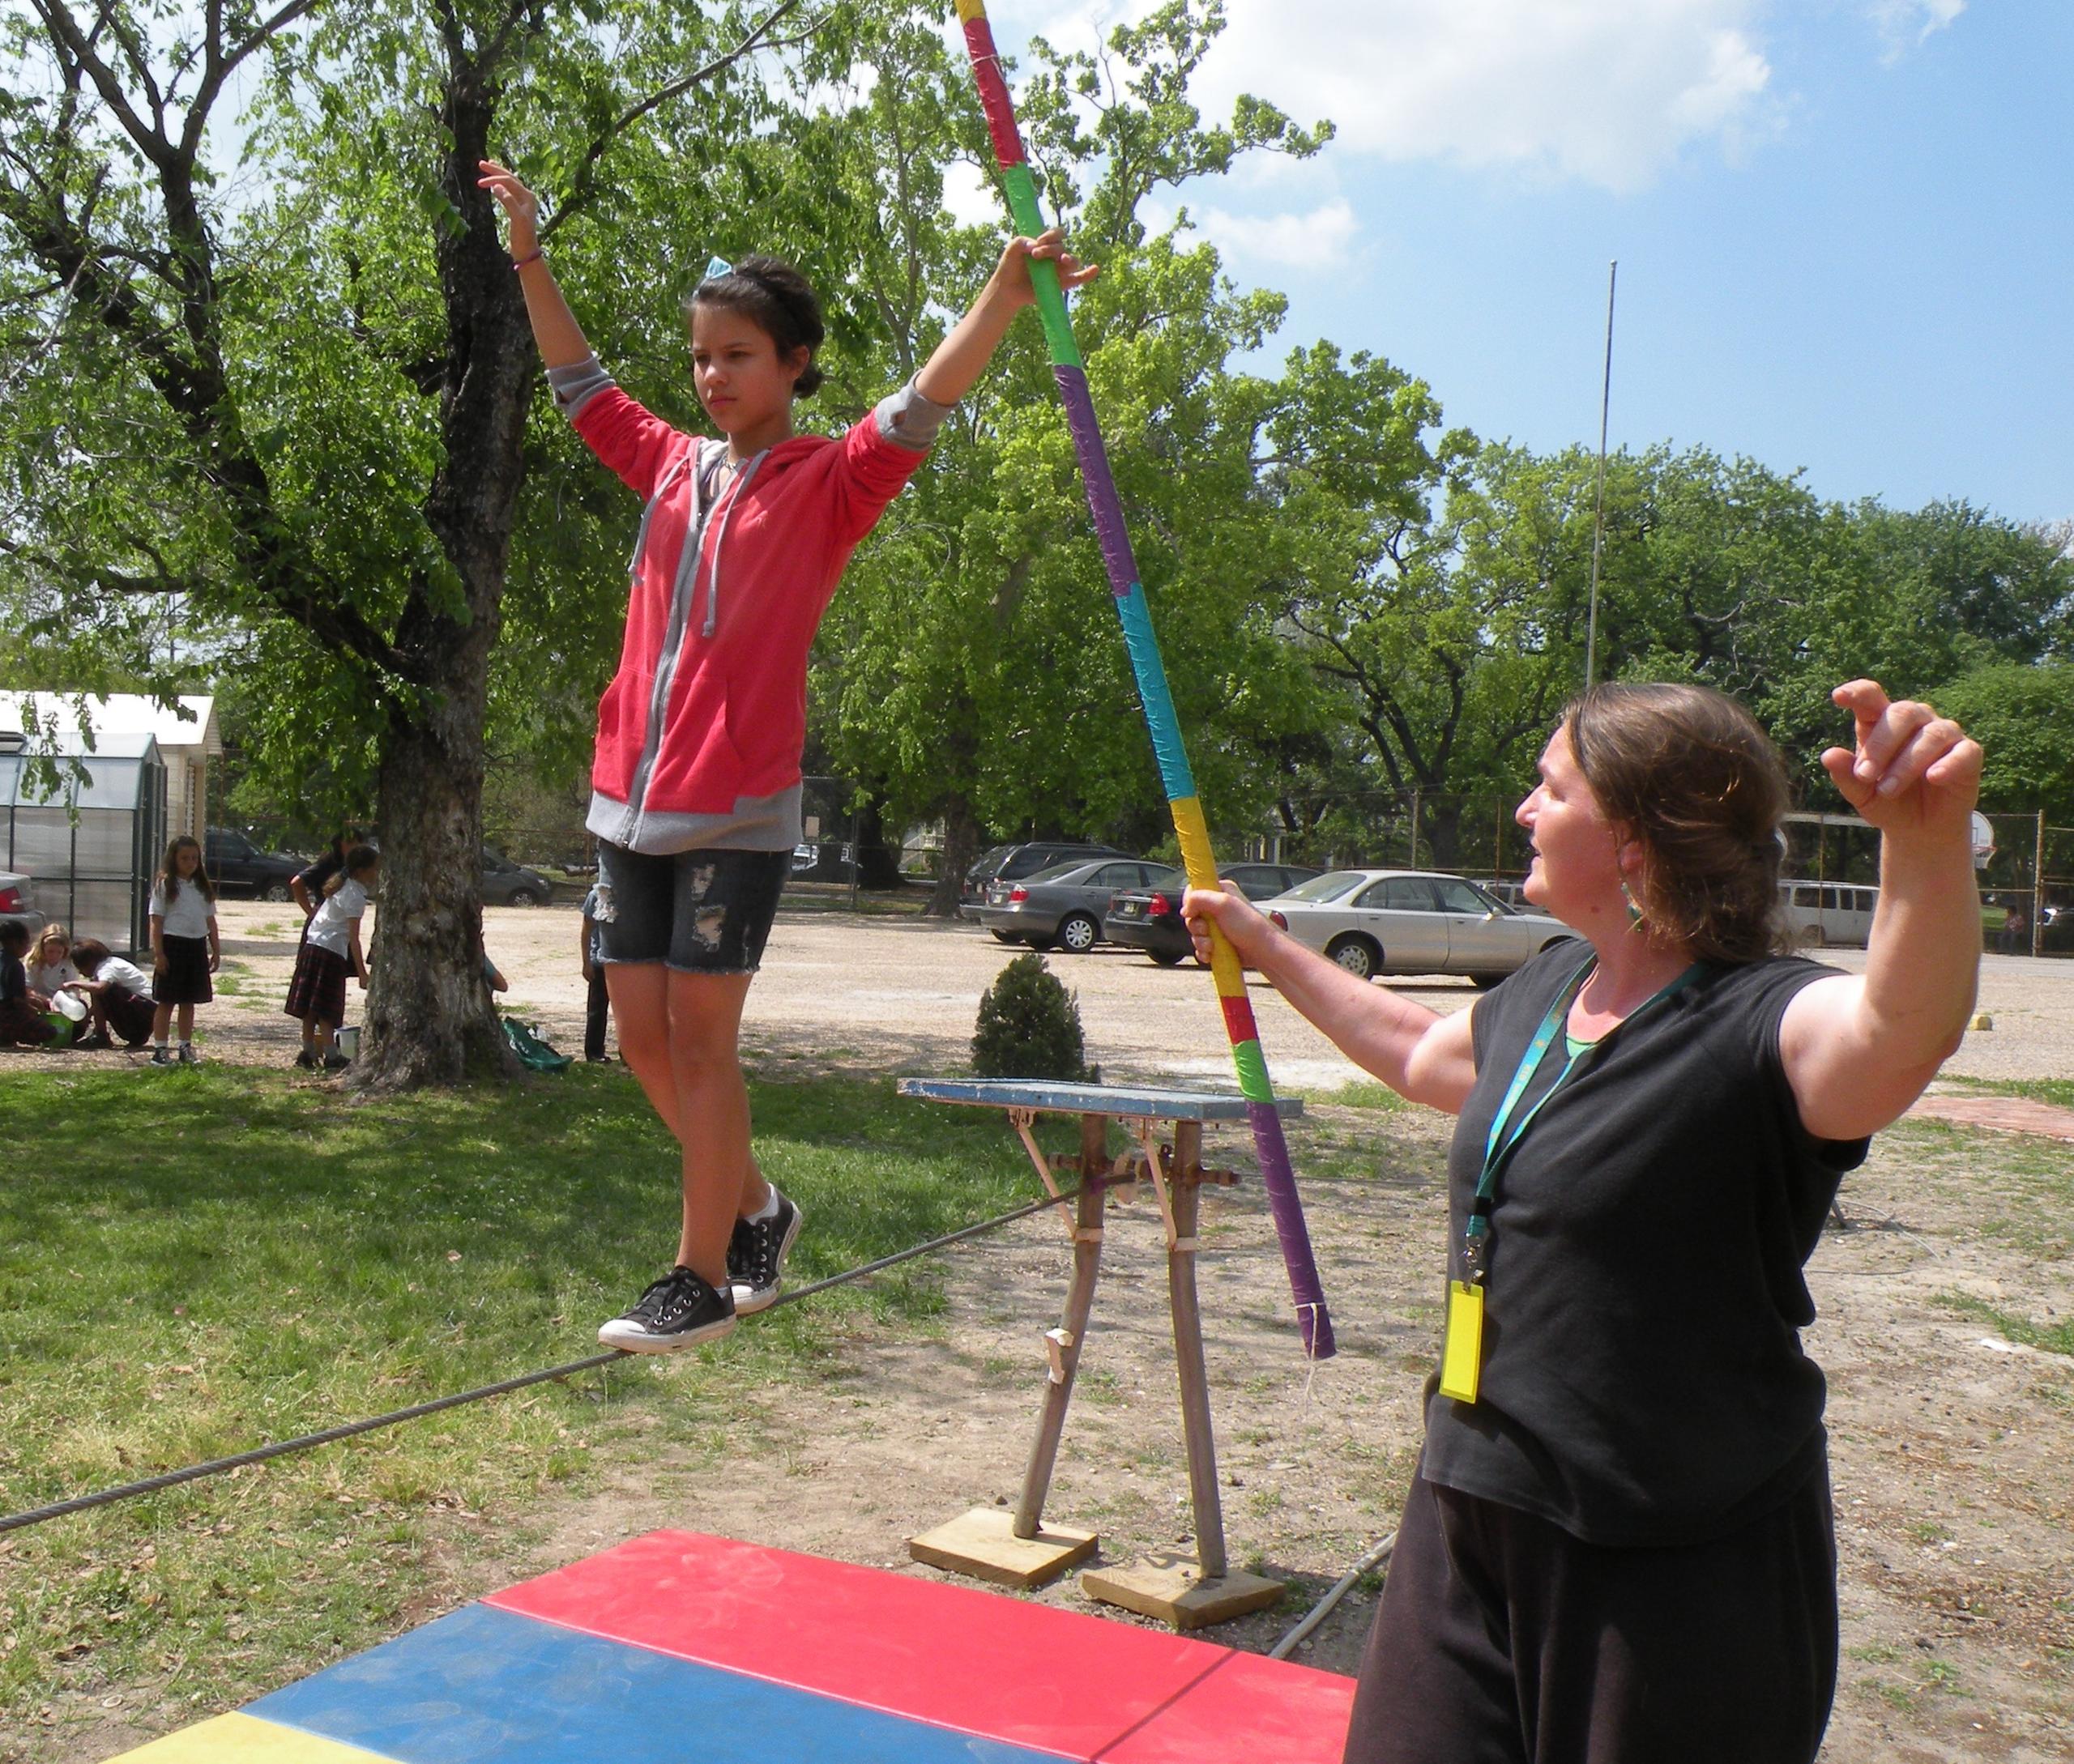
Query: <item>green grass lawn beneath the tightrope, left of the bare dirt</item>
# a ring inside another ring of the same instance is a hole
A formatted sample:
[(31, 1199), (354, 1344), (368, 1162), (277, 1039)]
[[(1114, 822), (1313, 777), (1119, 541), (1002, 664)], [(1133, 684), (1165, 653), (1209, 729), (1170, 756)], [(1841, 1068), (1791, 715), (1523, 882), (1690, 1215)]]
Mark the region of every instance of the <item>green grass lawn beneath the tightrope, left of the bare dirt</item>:
[[(1031, 1198), (987, 1111), (751, 1088), (809, 1217), (796, 1281)], [(674, 1144), (620, 1068), (373, 1103), (226, 1065), (8, 1074), (0, 1136), (8, 1513), (591, 1354), (676, 1233)], [(745, 1383), (925, 1327), (929, 1269), (614, 1366), (610, 1403), (599, 1374), (541, 1385), (0, 1536), (0, 1760), (108, 1687), (201, 1714), (419, 1621), (467, 1548), (452, 1515), (523, 1532), (599, 1459), (718, 1453)]]

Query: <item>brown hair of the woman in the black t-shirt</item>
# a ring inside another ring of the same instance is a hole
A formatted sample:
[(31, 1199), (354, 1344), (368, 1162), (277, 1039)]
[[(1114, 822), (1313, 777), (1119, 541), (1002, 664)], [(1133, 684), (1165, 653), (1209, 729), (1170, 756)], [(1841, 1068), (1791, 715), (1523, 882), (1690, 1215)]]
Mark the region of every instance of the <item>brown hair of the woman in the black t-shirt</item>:
[(1709, 686), (1593, 686), (1562, 717), (1605, 819), (1643, 848), (1634, 904), (1701, 962), (1786, 945), (1786, 765), (1742, 705)]

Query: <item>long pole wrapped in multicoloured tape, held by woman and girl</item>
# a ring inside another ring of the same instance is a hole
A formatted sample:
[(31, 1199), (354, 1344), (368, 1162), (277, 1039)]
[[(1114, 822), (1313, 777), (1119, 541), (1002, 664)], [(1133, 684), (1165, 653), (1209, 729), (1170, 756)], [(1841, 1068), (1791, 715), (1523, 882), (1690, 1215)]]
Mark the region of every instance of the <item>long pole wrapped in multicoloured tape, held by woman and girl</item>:
[[(1043, 232), (1037, 182), (1031, 178), (1022, 153), (1022, 131), (1016, 124), (1008, 81), (1002, 79), (993, 31), (987, 27), (987, 8), (983, 0), (956, 0), (956, 6), (958, 23), (964, 25), (964, 46), (973, 54), (973, 75), (979, 79), (979, 104), (987, 114), (987, 133), (993, 137), (993, 158), (1000, 162), (1002, 182), (1008, 187), (1008, 207), (1014, 211), (1016, 226), (1035, 236)], [(1049, 263), (1033, 261), (1031, 276), (1037, 284), (1037, 315), (1043, 319), (1045, 342), (1052, 348), (1052, 373), (1058, 379), (1058, 396), (1066, 404), (1072, 450), (1081, 460), (1081, 479), (1087, 485), (1087, 508), (1095, 516), (1095, 535), (1110, 570), (1116, 616), (1124, 622), (1130, 672), (1139, 680), (1139, 701), (1145, 705), (1145, 723), (1159, 759), (1159, 779), (1166, 786), (1168, 806), (1174, 810), (1174, 831), (1180, 837), (1188, 885), (1217, 887), (1209, 827), (1195, 794), (1188, 748), (1180, 738), (1174, 694), (1168, 690), (1166, 663), (1159, 659), (1159, 641), (1153, 636), (1153, 618), (1145, 605), (1145, 585), (1139, 582), (1139, 564), (1130, 553), (1130, 535), (1124, 531), (1124, 506), (1118, 502), (1116, 481), (1110, 477), (1110, 454), (1101, 442), (1095, 402), (1087, 392), (1087, 371), (1081, 365), (1078, 344), (1072, 340), (1066, 296), (1058, 286), (1058, 272)], [(1224, 937), (1215, 937), (1211, 943), (1209, 970), (1217, 983), (1217, 1003), (1224, 1005), (1224, 1028), (1232, 1039), (1232, 1063), (1238, 1068), (1238, 1088), (1246, 1099), (1253, 1148), (1267, 1184), (1276, 1235), (1282, 1240), (1282, 1260), (1290, 1273), (1305, 1352), (1315, 1360), (1325, 1360), (1334, 1352), (1332, 1316), (1317, 1281), (1311, 1233), (1305, 1229), (1302, 1202), (1296, 1198), (1296, 1177), (1290, 1171), (1290, 1153), (1282, 1138), (1276, 1092), (1267, 1082), (1267, 1059), (1253, 1022), (1253, 1001), (1246, 999), (1246, 978)]]

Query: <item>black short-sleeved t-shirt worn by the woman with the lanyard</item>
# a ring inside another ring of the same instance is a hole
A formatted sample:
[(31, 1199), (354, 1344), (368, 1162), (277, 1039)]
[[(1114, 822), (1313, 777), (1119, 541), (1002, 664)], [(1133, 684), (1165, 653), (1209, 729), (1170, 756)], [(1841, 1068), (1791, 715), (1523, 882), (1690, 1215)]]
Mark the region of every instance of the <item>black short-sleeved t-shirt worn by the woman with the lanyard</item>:
[[(1491, 1117), (1587, 949), (1477, 1003), (1477, 1082), (1448, 1155), (1462, 1240)], [(1867, 1140), (1817, 1140), (1779, 1055), (1788, 1001), (1833, 970), (1705, 968), (1587, 1053), (1497, 1179), (1475, 1403), (1427, 1395), (1425, 1476), (1599, 1544), (1701, 1542), (1823, 1455), (1800, 1269)], [(1545, 1094), (1564, 1041), (1520, 1107)]]

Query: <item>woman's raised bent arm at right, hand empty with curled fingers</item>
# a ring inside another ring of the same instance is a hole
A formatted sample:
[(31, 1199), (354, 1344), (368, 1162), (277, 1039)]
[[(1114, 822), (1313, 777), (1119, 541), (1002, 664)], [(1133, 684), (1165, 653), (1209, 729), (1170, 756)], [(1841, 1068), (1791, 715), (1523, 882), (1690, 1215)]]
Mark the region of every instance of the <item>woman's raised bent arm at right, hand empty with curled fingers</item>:
[(1981, 978), (1972, 804), (1981, 744), (1929, 705), (1894, 703), (1875, 680), (1838, 686), (1852, 748), (1821, 763), (1879, 827), (1879, 908), (1865, 974), (1802, 987), (1779, 1053), (1802, 1126), (1854, 1140), (1900, 1119), (1958, 1051)]

